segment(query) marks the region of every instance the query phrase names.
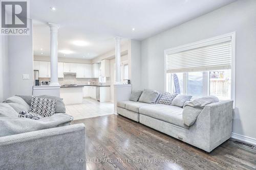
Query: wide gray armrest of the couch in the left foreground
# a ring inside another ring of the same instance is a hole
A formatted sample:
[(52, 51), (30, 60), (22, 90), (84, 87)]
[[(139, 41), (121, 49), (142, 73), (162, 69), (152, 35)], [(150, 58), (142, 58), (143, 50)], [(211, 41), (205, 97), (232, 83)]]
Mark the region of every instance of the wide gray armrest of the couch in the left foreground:
[(86, 169), (83, 124), (0, 137), (0, 169)]

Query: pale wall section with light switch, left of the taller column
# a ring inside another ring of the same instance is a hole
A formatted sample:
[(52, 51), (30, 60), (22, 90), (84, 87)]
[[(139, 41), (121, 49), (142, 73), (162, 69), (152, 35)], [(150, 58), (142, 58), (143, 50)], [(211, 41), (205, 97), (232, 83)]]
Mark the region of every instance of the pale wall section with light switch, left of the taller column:
[[(30, 20), (30, 35), (9, 36), (9, 87), (10, 95), (31, 95), (33, 86), (33, 31)], [(23, 80), (23, 74), (30, 79)]]

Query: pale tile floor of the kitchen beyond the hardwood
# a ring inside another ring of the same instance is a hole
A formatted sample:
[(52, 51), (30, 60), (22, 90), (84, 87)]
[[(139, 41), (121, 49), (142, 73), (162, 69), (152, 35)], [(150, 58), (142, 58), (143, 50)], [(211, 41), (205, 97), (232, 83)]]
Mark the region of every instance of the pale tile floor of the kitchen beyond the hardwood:
[(66, 105), (66, 113), (75, 120), (109, 115), (114, 113), (114, 104), (111, 102), (100, 103), (93, 99), (83, 99), (82, 104)]

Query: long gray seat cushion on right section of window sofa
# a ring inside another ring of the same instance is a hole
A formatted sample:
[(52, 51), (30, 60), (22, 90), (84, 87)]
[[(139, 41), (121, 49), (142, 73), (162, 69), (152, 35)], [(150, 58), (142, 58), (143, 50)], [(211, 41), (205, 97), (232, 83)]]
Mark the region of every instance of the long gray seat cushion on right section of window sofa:
[(182, 111), (181, 107), (164, 104), (149, 105), (139, 109), (140, 114), (188, 129), (189, 127), (183, 123)]

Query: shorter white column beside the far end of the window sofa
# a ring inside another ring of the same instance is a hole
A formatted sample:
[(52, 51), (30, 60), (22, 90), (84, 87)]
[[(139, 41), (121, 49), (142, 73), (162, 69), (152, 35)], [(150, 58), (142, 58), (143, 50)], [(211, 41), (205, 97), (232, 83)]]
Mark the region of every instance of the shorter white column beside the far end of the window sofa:
[(115, 84), (121, 84), (121, 49), (120, 49), (121, 37), (115, 37), (115, 41), (116, 41), (116, 82)]

